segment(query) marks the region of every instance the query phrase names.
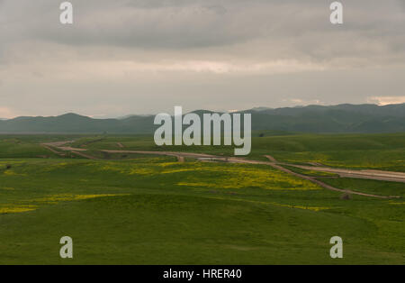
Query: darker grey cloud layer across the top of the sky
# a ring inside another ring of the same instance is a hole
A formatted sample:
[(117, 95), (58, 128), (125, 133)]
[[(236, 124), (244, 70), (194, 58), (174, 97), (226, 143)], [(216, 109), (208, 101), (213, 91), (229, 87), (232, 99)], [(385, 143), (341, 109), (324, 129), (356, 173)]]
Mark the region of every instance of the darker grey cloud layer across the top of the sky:
[(405, 15), (399, 12), (398, 0), (347, 3), (342, 27), (329, 23), (329, 5), (323, 0), (71, 2), (75, 24), (66, 27), (58, 24), (55, 1), (4, 1), (4, 45), (31, 39), (71, 46), (187, 50), (250, 42), (254, 51), (284, 50), (286, 58), (312, 60), (384, 54), (391, 59), (402, 57), (405, 49)]

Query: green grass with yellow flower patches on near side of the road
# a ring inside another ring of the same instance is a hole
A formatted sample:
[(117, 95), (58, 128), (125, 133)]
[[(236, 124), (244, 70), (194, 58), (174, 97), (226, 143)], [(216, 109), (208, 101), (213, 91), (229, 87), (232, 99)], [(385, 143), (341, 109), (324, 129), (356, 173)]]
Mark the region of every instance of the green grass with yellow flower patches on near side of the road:
[[(174, 161), (14, 160), (0, 209), (35, 210), (0, 215), (0, 263), (404, 263), (403, 205), (341, 200), (266, 166)], [(80, 199), (102, 194), (114, 196)], [(64, 235), (74, 260), (58, 257)], [(334, 235), (343, 260), (329, 258)]]

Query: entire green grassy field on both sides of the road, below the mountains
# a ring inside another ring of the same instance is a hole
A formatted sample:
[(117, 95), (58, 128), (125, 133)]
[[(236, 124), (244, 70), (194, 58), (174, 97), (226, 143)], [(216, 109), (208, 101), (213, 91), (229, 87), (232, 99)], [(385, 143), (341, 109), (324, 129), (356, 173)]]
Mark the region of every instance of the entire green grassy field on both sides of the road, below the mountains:
[[(100, 160), (39, 145), (72, 139)], [(233, 151), (161, 149), (146, 136), (0, 137), (1, 264), (405, 263), (403, 198), (345, 200), (266, 165), (100, 152), (122, 149), (118, 142), (125, 150)], [(404, 146), (405, 134), (268, 136), (254, 138), (248, 158), (404, 171)], [(325, 177), (340, 188), (405, 195), (401, 183)], [(65, 235), (73, 260), (58, 255)], [(343, 259), (329, 257), (335, 235)]]

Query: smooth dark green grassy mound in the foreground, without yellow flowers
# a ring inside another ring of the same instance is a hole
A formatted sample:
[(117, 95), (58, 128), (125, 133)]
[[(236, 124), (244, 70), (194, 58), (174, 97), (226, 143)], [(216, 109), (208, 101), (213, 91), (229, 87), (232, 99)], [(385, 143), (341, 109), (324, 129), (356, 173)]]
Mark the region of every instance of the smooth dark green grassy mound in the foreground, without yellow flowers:
[[(201, 196), (114, 196), (3, 218), (0, 237), (12, 244), (0, 244), (2, 263), (334, 263), (327, 240), (337, 233), (346, 240), (339, 263), (403, 260), (362, 239), (376, 229), (361, 219)], [(58, 259), (64, 234), (74, 260)]]

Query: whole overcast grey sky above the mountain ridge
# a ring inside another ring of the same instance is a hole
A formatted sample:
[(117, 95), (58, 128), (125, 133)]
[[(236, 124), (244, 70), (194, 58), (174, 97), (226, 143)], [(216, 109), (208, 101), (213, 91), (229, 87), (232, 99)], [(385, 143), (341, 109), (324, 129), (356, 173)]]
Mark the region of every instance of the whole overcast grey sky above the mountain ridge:
[(0, 0), (0, 118), (405, 103), (405, 0)]

